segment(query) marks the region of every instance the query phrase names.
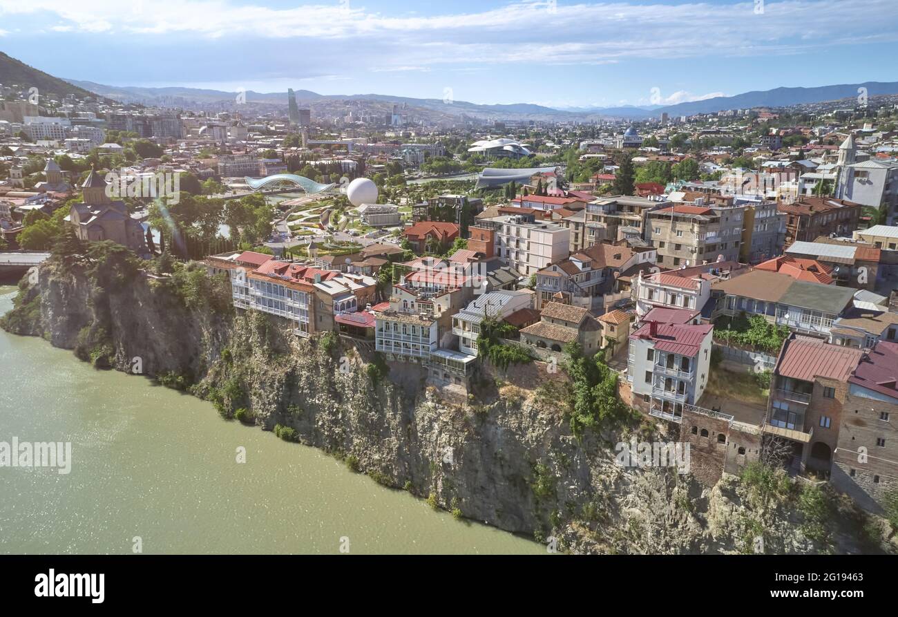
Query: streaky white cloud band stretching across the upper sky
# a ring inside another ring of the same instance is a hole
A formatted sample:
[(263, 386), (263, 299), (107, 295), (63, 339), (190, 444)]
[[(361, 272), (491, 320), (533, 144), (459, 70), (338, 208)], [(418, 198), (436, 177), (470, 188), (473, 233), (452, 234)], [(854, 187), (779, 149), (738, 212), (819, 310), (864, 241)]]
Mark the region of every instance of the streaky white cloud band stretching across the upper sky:
[[(377, 13), (338, 2), (275, 9), (227, 0), (0, 0), (5, 22), (52, 15), (54, 30), (143, 38), (345, 40), (380, 71), (531, 63), (602, 65), (629, 58), (787, 55), (898, 40), (894, 0), (752, 0), (738, 4), (606, 4), (519, 0), (478, 13)], [(876, 15), (875, 18), (872, 16)], [(410, 68), (409, 68), (410, 67)], [(673, 96), (673, 95), (672, 95)]]

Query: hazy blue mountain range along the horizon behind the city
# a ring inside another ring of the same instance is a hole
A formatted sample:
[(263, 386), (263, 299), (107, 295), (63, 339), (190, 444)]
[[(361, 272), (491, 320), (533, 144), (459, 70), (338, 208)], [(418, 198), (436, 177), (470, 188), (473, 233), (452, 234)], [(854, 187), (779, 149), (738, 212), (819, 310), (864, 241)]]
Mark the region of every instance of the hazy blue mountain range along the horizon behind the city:
[[(55, 93), (65, 96), (73, 93), (79, 97), (100, 95), (114, 101), (141, 103), (145, 105), (207, 106), (228, 105), (236, 101), (237, 93), (202, 88), (166, 87), (145, 88), (140, 86), (110, 86), (74, 79), (59, 79), (36, 68), (25, 65), (13, 57), (0, 52), (0, 84), (28, 84), (37, 86), (41, 93)], [(339, 110), (341, 101), (364, 101), (375, 103), (374, 109), (387, 105), (406, 105), (413, 110), (428, 110), (439, 118), (470, 116), (480, 119), (648, 119), (660, 118), (662, 113), (671, 117), (689, 116), (696, 113), (714, 113), (723, 110), (740, 110), (753, 107), (788, 107), (802, 103), (838, 101), (858, 96), (858, 89), (866, 88), (867, 95), (898, 94), (898, 82), (866, 82), (864, 84), (825, 85), (814, 88), (774, 88), (719, 96), (703, 101), (682, 102), (664, 107), (647, 106), (607, 108), (564, 108), (556, 109), (533, 103), (506, 105), (482, 105), (468, 101), (443, 101), (440, 99), (415, 99), (386, 94), (319, 94), (309, 90), (297, 90), (296, 101), (301, 105), (317, 103), (328, 110)], [(273, 105), (286, 108), (286, 92), (245, 93), (247, 103), (264, 106)]]

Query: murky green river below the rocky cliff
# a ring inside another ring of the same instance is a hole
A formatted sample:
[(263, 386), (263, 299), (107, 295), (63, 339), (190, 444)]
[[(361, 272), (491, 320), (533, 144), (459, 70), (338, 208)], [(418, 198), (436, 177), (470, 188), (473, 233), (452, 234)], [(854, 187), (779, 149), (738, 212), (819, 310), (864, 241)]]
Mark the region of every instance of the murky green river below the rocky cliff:
[(0, 552), (546, 552), (45, 340), (0, 331), (0, 368), (0, 442), (72, 444), (68, 474), (0, 467)]

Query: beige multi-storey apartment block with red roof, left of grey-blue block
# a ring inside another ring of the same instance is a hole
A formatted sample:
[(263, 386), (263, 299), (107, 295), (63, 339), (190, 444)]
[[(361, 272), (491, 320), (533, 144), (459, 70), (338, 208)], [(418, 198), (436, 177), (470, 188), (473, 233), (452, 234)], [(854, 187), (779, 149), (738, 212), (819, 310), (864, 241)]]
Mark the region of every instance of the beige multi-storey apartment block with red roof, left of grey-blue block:
[(658, 251), (657, 263), (667, 268), (695, 266), (721, 258), (739, 259), (742, 251), (744, 206), (671, 206), (647, 215), (647, 240)]

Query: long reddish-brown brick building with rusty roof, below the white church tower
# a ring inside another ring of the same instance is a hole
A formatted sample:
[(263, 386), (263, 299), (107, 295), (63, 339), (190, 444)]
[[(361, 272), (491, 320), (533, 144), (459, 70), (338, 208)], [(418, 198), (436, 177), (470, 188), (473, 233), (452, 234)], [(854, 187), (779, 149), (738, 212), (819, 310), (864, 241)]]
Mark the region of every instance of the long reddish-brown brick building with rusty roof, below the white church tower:
[(779, 204), (786, 215), (784, 246), (792, 242), (814, 242), (822, 235), (849, 236), (858, 228), (860, 204), (844, 199), (801, 197), (788, 204)]

